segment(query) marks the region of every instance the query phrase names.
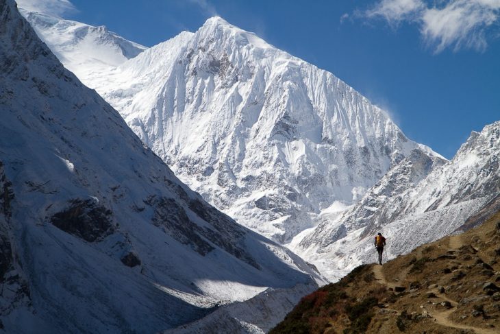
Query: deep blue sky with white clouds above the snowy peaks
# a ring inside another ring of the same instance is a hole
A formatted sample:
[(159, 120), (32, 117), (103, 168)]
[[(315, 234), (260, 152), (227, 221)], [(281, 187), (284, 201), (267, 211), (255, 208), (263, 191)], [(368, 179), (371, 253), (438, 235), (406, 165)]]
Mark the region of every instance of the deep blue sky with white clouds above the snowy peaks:
[(452, 158), (500, 120), (500, 0), (18, 0), (146, 46), (218, 15), (331, 71)]

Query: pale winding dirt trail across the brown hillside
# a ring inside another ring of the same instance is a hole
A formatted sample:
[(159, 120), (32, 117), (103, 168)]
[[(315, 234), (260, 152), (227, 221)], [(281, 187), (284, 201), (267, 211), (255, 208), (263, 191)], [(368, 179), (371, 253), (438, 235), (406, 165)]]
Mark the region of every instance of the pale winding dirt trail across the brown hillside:
[[(461, 246), (462, 246), (462, 241), (460, 239), (460, 236), (457, 235), (450, 238), (449, 240), (450, 248), (456, 249), (460, 248)], [(384, 284), (387, 287), (392, 287), (392, 289), (394, 289), (394, 287), (396, 286), (395, 283), (389, 283), (387, 281), (382, 265), (373, 265), (373, 274), (375, 275), (375, 279), (379, 281), (379, 283)], [(432, 318), (436, 320), (438, 324), (441, 324), (442, 326), (446, 327), (451, 327), (454, 329), (468, 329), (471, 331), (475, 331), (475, 333), (478, 334), (498, 334), (498, 331), (496, 329), (482, 329), (480, 327), (467, 326), (465, 324), (458, 324), (457, 322), (453, 322), (452, 320), (449, 319), (449, 316), (451, 315), (451, 313), (455, 311), (455, 307), (457, 307), (458, 303), (455, 302), (455, 300), (451, 300), (447, 296), (440, 294), (437, 290), (434, 291), (434, 293), (442, 300), (447, 300), (448, 302), (450, 302), (451, 306), (453, 307), (452, 309), (445, 311), (434, 310), (432, 312), (432, 315), (429, 314), (432, 316)]]

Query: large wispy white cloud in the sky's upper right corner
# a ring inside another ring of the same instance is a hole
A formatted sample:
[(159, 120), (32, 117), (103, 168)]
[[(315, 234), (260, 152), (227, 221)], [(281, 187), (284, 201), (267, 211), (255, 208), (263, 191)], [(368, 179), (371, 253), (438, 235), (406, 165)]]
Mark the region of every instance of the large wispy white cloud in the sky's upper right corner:
[(499, 29), (500, 0), (380, 0), (359, 15), (384, 19), (392, 27), (414, 23), (435, 53), (448, 47), (484, 51), (488, 32)]

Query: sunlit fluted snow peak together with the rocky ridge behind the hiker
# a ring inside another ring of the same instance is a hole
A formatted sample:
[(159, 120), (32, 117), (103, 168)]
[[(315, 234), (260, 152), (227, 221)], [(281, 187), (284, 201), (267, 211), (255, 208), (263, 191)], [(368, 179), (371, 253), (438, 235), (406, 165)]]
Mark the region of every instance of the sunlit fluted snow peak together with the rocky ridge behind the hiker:
[(372, 260), (378, 230), (392, 256), (499, 206), (497, 123), (447, 163), (332, 73), (220, 18), (84, 79), (206, 200), (293, 238), (331, 279)]

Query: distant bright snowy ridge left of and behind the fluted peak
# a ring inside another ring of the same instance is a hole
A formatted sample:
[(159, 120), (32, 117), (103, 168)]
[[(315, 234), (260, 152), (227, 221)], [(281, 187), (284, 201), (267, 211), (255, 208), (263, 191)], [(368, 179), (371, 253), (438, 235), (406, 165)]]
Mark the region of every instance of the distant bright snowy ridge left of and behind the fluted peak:
[(104, 26), (93, 27), (22, 8), (20, 11), (64, 67), (84, 84), (147, 49)]

